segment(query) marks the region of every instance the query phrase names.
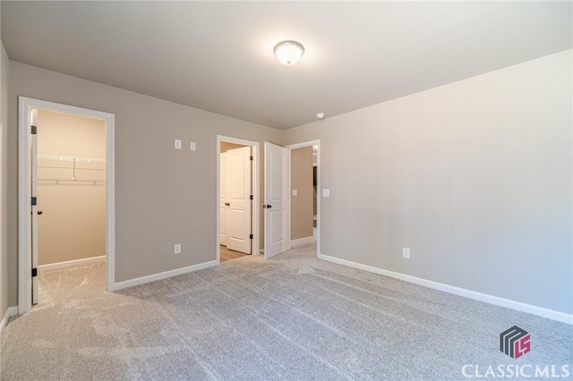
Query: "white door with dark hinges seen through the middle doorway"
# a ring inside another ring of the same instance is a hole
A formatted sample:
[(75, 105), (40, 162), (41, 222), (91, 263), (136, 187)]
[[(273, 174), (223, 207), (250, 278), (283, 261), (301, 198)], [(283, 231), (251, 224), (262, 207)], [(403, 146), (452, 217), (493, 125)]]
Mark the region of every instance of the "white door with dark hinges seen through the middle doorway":
[(227, 249), (252, 251), (252, 161), (251, 147), (229, 149)]

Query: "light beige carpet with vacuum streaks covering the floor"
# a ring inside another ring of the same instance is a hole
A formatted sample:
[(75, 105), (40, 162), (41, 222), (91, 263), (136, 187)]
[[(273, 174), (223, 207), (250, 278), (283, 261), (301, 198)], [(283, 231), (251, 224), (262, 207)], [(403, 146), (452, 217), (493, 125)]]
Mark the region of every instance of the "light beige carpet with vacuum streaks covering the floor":
[[(4, 330), (0, 376), (459, 380), (467, 364), (482, 374), (569, 364), (573, 374), (571, 326), (314, 252), (247, 256), (115, 293), (105, 292), (102, 264), (42, 272), (41, 303)], [(532, 350), (517, 360), (499, 351), (499, 334), (514, 325), (532, 335)]]

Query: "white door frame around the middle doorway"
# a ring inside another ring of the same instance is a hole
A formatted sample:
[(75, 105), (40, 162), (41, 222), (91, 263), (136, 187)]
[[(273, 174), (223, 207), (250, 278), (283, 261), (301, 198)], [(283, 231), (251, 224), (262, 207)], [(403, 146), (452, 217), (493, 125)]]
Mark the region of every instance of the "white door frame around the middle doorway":
[(217, 240), (216, 240), (216, 253), (217, 253), (217, 264), (221, 263), (221, 235), (220, 235), (220, 225), (221, 225), (221, 210), (219, 206), (220, 194), (221, 194), (221, 142), (226, 143), (234, 143), (240, 144), (242, 146), (249, 146), (252, 148), (252, 250), (251, 255), (259, 255), (259, 240), (260, 240), (260, 188), (259, 188), (259, 177), (260, 177), (260, 168), (259, 168), (259, 147), (260, 143), (258, 141), (252, 140), (244, 140), (239, 138), (233, 138), (224, 135), (217, 135), (217, 203), (216, 203), (216, 210), (217, 210)]

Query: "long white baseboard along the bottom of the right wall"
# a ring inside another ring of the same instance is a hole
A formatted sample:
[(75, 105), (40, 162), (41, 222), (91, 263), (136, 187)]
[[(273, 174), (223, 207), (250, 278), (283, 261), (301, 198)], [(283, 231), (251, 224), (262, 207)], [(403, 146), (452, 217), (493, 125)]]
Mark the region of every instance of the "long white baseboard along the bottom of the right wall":
[(573, 315), (566, 314), (565, 312), (556, 311), (554, 309), (545, 309), (543, 307), (534, 306), (532, 304), (522, 303), (521, 301), (511, 301), (509, 299), (488, 295), (486, 293), (466, 290), (460, 287), (451, 286), (449, 284), (440, 284), (438, 282), (429, 281), (412, 275), (395, 273), (393, 271), (384, 270), (379, 267), (363, 265), (361, 263), (356, 263), (336, 257), (330, 257), (324, 254), (319, 254), (318, 258), (332, 263), (336, 263), (338, 265), (354, 267), (360, 270), (368, 271), (370, 273), (389, 276), (390, 278), (399, 279), (401, 281), (409, 282), (412, 284), (419, 284), (424, 287), (432, 288), (434, 290), (453, 293), (455, 295), (463, 296), (465, 298), (473, 299), (475, 301), (483, 301), (486, 303), (494, 304), (496, 306), (505, 307), (506, 309), (516, 309), (517, 311), (527, 312), (542, 318), (550, 318), (552, 320), (560, 321), (561, 323), (573, 325)]

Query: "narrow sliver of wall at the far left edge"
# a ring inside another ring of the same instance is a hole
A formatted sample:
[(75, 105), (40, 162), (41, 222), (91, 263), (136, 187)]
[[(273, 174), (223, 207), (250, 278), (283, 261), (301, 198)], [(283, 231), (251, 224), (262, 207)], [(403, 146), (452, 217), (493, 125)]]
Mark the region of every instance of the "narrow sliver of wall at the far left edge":
[(14, 303), (8, 302), (8, 220), (7, 220), (7, 144), (6, 133), (8, 130), (8, 72), (10, 60), (4, 45), (0, 45), (0, 320), (8, 306)]

